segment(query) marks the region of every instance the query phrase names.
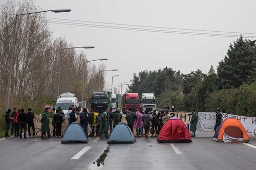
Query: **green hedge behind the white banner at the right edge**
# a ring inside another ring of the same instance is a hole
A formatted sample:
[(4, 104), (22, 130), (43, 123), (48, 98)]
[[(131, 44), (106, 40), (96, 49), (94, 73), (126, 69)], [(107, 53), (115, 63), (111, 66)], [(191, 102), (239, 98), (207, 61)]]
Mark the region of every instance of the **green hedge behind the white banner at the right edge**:
[(218, 107), (222, 112), (256, 117), (256, 83), (211, 92), (206, 98), (206, 111)]

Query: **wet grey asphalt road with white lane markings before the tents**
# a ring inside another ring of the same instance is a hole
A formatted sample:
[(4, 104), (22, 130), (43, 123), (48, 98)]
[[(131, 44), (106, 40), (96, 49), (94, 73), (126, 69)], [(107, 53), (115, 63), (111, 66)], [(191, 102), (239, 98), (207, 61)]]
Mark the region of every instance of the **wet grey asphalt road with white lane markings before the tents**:
[(0, 140), (0, 169), (256, 169), (254, 139), (250, 145), (209, 137), (192, 143), (138, 137), (134, 144), (107, 144), (98, 139), (90, 137), (86, 144), (61, 144), (61, 138)]

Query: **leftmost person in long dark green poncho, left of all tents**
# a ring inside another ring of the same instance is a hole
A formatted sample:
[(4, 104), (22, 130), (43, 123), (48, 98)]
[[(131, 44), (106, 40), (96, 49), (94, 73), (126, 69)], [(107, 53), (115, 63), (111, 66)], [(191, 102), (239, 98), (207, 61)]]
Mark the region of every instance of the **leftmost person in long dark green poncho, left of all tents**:
[(42, 132), (41, 139), (45, 139), (44, 136), (46, 136), (46, 132), (48, 135), (48, 139), (51, 137), (51, 135), (50, 135), (50, 119), (49, 119), (50, 111), (51, 111), (50, 108), (46, 107), (45, 112), (42, 113), (42, 118), (41, 118), (42, 125), (41, 125), (41, 129), (40, 129), (40, 131)]

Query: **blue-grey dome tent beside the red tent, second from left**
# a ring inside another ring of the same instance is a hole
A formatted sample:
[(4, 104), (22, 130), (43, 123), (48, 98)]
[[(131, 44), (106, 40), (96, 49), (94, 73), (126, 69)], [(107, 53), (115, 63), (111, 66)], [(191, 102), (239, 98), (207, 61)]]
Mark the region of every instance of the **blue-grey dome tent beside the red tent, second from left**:
[(131, 129), (124, 123), (118, 123), (110, 134), (108, 143), (134, 143), (136, 141)]

